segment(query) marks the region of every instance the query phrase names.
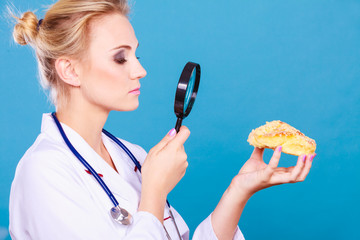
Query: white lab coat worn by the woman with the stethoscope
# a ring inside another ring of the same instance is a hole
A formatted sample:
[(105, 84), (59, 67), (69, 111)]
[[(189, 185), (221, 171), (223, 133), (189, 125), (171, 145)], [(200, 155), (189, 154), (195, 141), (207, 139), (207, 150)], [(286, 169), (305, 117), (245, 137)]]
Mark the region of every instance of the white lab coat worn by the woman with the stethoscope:
[[(117, 173), (79, 134), (65, 124), (62, 126), (73, 146), (102, 175), (120, 206), (132, 214), (134, 221), (125, 226), (111, 218), (112, 202), (68, 149), (51, 114), (44, 114), (41, 133), (20, 160), (11, 186), (9, 229), (12, 239), (167, 239), (163, 225), (154, 215), (137, 210), (141, 175), (134, 171), (134, 163), (128, 155), (103, 134), (104, 145)], [(147, 154), (144, 149), (120, 140), (142, 164)], [(188, 226), (174, 208), (171, 210), (183, 239), (189, 239)], [(210, 216), (196, 228), (193, 239), (217, 239)], [(168, 217), (166, 207), (164, 226), (172, 239), (178, 239)], [(239, 228), (234, 239), (244, 239)]]

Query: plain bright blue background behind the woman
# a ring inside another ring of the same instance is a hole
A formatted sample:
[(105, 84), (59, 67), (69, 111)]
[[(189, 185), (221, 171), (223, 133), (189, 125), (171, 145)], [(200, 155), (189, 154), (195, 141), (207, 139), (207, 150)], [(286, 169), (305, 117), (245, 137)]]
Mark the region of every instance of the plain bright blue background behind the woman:
[[(20, 11), (51, 1), (11, 1)], [(5, 12), (5, 1), (1, 1)], [(15, 168), (53, 107), (37, 83), (29, 47), (0, 20), (0, 239), (8, 239)], [(305, 182), (265, 189), (240, 220), (247, 239), (360, 239), (360, 1), (137, 1), (131, 22), (148, 71), (140, 106), (113, 112), (106, 128), (147, 151), (174, 127), (173, 102), (188, 60), (202, 67), (198, 99), (184, 124), (187, 173), (169, 195), (192, 233), (215, 208), (253, 148), (251, 129), (280, 119), (314, 138)], [(265, 151), (268, 161), (272, 150)], [(283, 155), (280, 165), (296, 157)], [(7, 236), (7, 237), (6, 237)]]

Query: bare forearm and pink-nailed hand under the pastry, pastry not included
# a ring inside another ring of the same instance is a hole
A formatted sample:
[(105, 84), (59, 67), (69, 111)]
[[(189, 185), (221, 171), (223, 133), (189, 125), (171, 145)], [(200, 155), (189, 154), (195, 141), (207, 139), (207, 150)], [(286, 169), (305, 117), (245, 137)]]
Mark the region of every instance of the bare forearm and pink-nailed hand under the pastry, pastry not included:
[(215, 234), (232, 239), (234, 229), (249, 198), (257, 191), (283, 183), (304, 181), (315, 154), (300, 155), (296, 166), (278, 167), (282, 147), (275, 149), (269, 164), (263, 160), (263, 148), (255, 148), (250, 159), (233, 178), (216, 206), (211, 220)]

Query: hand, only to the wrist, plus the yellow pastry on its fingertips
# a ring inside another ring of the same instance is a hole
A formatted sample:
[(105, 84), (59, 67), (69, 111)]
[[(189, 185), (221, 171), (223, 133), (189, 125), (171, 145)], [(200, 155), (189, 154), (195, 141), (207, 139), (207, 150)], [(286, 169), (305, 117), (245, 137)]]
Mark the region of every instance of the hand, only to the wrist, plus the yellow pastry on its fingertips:
[[(316, 155), (315, 141), (282, 121), (267, 122), (252, 130), (248, 142), (255, 146), (254, 152), (231, 187), (249, 196), (273, 185), (304, 181)], [(264, 148), (275, 149), (269, 164), (263, 160)], [(299, 156), (296, 166), (278, 167), (281, 152)]]

